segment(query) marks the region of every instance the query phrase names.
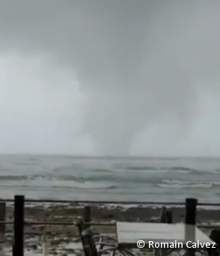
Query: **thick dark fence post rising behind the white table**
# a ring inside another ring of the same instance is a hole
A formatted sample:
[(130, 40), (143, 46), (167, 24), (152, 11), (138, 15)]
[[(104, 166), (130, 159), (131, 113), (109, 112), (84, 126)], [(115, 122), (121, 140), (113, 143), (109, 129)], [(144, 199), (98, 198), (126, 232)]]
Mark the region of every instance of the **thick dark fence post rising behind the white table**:
[[(196, 207), (197, 199), (186, 198), (186, 215), (185, 215), (185, 242), (195, 242), (195, 227), (196, 227)], [(194, 251), (189, 250), (189, 255), (194, 255)]]

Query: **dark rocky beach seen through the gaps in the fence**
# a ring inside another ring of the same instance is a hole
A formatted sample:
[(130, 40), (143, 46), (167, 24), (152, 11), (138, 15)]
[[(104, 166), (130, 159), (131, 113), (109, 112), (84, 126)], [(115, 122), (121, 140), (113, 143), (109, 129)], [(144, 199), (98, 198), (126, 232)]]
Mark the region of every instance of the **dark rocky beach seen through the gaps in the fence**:
[[(181, 207), (170, 208), (173, 211), (174, 222), (183, 222), (185, 209)], [(92, 222), (108, 222), (111, 226), (95, 226), (94, 231), (98, 234), (115, 234), (114, 221), (120, 222), (150, 222), (160, 214), (161, 207), (130, 207), (108, 205), (91, 205)], [(83, 206), (77, 204), (56, 204), (56, 205), (30, 205), (25, 207), (25, 220), (28, 222), (74, 222), (82, 216)], [(198, 210), (198, 223), (220, 222), (219, 210)], [(13, 220), (13, 207), (7, 205), (7, 221)], [(7, 243), (10, 248), (12, 243), (13, 226), (7, 225)], [(209, 234), (210, 230), (206, 230)], [(43, 234), (49, 251), (52, 255), (60, 255), (58, 248), (63, 253), (81, 255), (78, 230), (74, 225), (27, 225), (25, 226), (25, 248), (28, 251), (42, 252)], [(72, 244), (72, 247), (70, 246)], [(68, 246), (69, 247), (68, 247)], [(78, 247), (78, 249), (77, 249)], [(78, 250), (78, 251), (77, 251)]]

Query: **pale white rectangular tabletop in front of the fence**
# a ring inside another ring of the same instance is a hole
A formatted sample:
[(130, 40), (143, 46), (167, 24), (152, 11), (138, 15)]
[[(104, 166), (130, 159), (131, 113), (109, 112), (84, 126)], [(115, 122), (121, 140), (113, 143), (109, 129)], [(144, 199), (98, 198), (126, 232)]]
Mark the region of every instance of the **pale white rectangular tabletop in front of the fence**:
[[(117, 240), (121, 245), (136, 246), (138, 240), (144, 240), (145, 243), (148, 241), (173, 243), (177, 240), (177, 242), (186, 244), (186, 242), (193, 240), (193, 229), (195, 229), (195, 241), (199, 240), (201, 243), (213, 242), (206, 234), (191, 225), (117, 222), (116, 227)], [(188, 229), (188, 237), (185, 237), (186, 228)]]

